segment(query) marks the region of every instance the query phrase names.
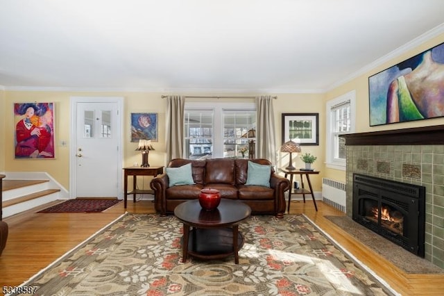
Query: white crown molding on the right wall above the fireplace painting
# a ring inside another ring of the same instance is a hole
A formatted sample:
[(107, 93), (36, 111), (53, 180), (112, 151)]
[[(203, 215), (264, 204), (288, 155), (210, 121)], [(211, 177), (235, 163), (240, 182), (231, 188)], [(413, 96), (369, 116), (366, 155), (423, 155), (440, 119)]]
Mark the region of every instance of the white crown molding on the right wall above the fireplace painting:
[(441, 35), (443, 33), (444, 33), (444, 23), (436, 26), (435, 28), (432, 28), (432, 30), (427, 31), (426, 33), (418, 36), (417, 38), (411, 40), (410, 42), (407, 42), (406, 44), (402, 45), (401, 47), (398, 47), (398, 49), (395, 49), (395, 50), (389, 52), (385, 56), (378, 58), (373, 63), (370, 63), (370, 64), (362, 67), (357, 72), (351, 74), (350, 76), (346, 77), (345, 79), (342, 79), (341, 81), (337, 81), (336, 83), (330, 85), (330, 87), (325, 89), (324, 92), (327, 92), (329, 90), (337, 88), (339, 85), (343, 85), (344, 83), (347, 83), (348, 81), (351, 81), (352, 79), (355, 79), (361, 75), (364, 75), (367, 72), (370, 72), (372, 69), (376, 69), (380, 65), (387, 63), (390, 60), (393, 60), (393, 58), (396, 58), (402, 54), (405, 54), (407, 51), (414, 49), (416, 47), (419, 47), (424, 42), (427, 42), (427, 40), (431, 40), (432, 38), (435, 38), (438, 35)]

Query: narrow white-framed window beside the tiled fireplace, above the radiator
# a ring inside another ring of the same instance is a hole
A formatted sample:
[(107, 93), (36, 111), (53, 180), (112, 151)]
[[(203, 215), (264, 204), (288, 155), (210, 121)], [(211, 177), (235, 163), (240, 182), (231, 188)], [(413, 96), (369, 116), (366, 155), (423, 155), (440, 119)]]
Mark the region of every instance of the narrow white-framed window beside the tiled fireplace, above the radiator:
[(345, 170), (345, 139), (340, 135), (355, 131), (355, 90), (327, 101), (327, 167)]

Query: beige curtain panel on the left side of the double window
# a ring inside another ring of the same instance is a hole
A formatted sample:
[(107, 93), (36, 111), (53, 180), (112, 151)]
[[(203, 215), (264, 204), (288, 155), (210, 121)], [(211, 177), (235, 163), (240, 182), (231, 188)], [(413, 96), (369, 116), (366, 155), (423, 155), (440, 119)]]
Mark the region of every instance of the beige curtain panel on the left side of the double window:
[(183, 157), (183, 122), (185, 97), (168, 96), (167, 129), (165, 147), (167, 147), (167, 163), (174, 158)]

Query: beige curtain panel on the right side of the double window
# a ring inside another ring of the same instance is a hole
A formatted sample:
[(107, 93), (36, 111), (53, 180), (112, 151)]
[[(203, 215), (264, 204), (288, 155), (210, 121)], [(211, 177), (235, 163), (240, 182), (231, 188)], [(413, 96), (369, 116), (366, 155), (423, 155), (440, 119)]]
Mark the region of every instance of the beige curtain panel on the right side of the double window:
[(266, 158), (276, 165), (275, 116), (271, 96), (256, 97), (257, 158)]

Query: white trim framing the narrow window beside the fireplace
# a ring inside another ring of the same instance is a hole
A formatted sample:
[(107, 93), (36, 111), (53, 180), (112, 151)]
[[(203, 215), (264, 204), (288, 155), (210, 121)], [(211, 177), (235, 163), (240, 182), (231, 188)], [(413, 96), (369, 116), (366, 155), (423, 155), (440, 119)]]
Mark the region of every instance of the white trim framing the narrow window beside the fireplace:
[(336, 106), (338, 104), (343, 104), (347, 101), (350, 101), (350, 132), (355, 132), (355, 126), (356, 126), (356, 90), (352, 90), (350, 92), (347, 92), (346, 94), (343, 94), (339, 97), (336, 97), (334, 99), (331, 99), (330, 101), (327, 101), (326, 104), (326, 114), (327, 114), (327, 120), (326, 120), (326, 129), (327, 131), (327, 140), (326, 140), (326, 155), (325, 155), (325, 165), (328, 168), (332, 168), (335, 170), (343, 170), (345, 171), (346, 163), (345, 160), (334, 158), (333, 156), (333, 149), (330, 148), (332, 143), (334, 141), (333, 135), (332, 135), (332, 107)]

